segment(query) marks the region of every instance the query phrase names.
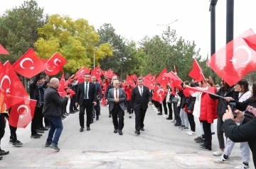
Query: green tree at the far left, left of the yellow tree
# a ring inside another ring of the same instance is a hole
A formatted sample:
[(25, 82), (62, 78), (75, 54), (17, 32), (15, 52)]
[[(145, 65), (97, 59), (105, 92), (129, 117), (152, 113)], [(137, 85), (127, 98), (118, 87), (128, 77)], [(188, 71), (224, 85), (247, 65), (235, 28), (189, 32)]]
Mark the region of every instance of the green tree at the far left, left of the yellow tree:
[(7, 10), (0, 16), (0, 43), (10, 52), (1, 55), (1, 62), (14, 63), (38, 39), (37, 28), (45, 23), (43, 8), (36, 1), (24, 1), (21, 6)]

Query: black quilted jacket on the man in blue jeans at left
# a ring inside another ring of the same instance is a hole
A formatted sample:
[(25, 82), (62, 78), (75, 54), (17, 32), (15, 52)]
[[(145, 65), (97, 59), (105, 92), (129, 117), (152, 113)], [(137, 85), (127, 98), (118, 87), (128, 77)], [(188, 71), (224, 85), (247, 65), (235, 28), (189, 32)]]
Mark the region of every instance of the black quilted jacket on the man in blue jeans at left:
[(46, 88), (44, 93), (43, 115), (61, 117), (61, 106), (67, 101), (68, 98), (61, 98), (58, 91), (52, 86)]

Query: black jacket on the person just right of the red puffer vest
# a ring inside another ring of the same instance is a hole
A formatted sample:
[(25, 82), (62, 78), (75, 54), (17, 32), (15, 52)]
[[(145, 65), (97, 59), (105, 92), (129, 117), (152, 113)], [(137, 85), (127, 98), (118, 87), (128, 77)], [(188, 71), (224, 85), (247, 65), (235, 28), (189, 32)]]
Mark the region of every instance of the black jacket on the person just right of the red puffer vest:
[[(224, 98), (225, 97), (231, 97), (235, 100), (238, 100), (239, 92), (235, 91), (233, 87), (231, 87), (228, 92), (225, 92), (222, 89), (223, 88), (220, 88), (215, 94), (220, 95)], [(215, 95), (210, 95), (210, 98), (214, 99), (214, 100), (218, 99), (218, 105), (217, 105), (218, 117), (222, 118), (223, 115), (225, 114), (225, 110), (228, 109), (228, 101), (225, 100), (224, 98), (220, 98), (220, 97), (215, 96)]]

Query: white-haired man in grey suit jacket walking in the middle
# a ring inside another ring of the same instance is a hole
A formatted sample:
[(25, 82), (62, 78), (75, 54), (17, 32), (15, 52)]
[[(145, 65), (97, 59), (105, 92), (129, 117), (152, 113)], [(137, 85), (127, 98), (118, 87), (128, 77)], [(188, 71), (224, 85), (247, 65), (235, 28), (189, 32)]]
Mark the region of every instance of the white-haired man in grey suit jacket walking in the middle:
[[(122, 129), (124, 128), (124, 102), (126, 95), (123, 88), (119, 88), (119, 81), (113, 81), (114, 88), (111, 88), (107, 93), (107, 100), (110, 103), (109, 109), (112, 114), (112, 120), (114, 124), (114, 133), (122, 135)], [(117, 120), (119, 118), (119, 121)]]

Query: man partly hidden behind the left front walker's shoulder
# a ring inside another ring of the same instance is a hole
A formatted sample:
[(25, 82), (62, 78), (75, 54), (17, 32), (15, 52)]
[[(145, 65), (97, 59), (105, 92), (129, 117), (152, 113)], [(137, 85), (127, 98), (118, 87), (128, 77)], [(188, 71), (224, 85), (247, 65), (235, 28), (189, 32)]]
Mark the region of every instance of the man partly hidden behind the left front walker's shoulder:
[[(102, 100), (102, 89), (101, 89), (100, 83), (97, 83), (96, 81), (96, 76), (92, 76), (92, 83), (95, 83), (95, 90), (97, 93), (97, 105), (95, 105), (94, 107), (95, 110), (92, 110), (92, 112), (96, 112), (96, 120), (99, 120), (100, 100)], [(94, 117), (95, 117), (95, 114), (94, 114)], [(93, 118), (92, 118), (92, 122), (93, 122)]]

